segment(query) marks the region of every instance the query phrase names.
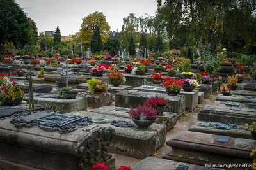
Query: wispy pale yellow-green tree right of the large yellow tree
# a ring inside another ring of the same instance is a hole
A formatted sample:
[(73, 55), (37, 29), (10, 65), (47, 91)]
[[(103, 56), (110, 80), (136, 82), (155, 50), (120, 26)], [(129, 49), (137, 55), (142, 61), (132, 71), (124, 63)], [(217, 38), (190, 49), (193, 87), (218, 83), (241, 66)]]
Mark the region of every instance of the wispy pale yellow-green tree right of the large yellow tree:
[(120, 43), (124, 48), (129, 46), (129, 40), (131, 36), (135, 38), (135, 42), (138, 42), (138, 20), (134, 13), (130, 13), (128, 17), (123, 18), (124, 24), (122, 25)]

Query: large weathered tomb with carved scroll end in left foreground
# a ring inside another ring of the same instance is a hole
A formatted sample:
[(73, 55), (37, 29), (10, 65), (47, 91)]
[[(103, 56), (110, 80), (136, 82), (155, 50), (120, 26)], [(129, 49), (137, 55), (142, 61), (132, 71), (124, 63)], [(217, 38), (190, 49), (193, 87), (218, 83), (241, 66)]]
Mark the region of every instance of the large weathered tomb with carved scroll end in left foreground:
[[(29, 121), (47, 114), (38, 112), (22, 118)], [(0, 120), (3, 169), (92, 169), (96, 162), (115, 166), (115, 159), (108, 153), (108, 143), (115, 134), (111, 127), (60, 133), (44, 131), (37, 125), (17, 128), (10, 124), (12, 119)]]

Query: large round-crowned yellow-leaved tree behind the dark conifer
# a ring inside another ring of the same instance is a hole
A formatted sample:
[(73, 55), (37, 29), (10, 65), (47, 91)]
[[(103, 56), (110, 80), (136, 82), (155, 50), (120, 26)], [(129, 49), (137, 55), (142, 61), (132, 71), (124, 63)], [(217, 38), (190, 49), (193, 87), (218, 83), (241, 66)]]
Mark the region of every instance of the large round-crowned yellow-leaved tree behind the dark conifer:
[(88, 48), (92, 40), (93, 31), (95, 26), (98, 25), (102, 42), (105, 43), (110, 36), (110, 26), (106, 21), (106, 16), (102, 12), (94, 12), (87, 17), (83, 18), (83, 23), (81, 24), (81, 30), (79, 34), (76, 34), (78, 40), (75, 40), (80, 43), (84, 43), (84, 47)]

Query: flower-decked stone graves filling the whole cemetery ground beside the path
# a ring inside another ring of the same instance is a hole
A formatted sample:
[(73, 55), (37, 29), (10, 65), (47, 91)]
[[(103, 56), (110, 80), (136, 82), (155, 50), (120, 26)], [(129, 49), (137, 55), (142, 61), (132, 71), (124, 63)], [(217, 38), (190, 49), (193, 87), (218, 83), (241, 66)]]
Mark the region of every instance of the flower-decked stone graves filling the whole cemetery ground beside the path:
[[(255, 168), (254, 64), (225, 57), (216, 72), (178, 55), (4, 56), (0, 168), (115, 169), (110, 153), (141, 159), (118, 169)], [(166, 141), (177, 118), (216, 92), (220, 104)], [(163, 145), (172, 151), (152, 157)]]

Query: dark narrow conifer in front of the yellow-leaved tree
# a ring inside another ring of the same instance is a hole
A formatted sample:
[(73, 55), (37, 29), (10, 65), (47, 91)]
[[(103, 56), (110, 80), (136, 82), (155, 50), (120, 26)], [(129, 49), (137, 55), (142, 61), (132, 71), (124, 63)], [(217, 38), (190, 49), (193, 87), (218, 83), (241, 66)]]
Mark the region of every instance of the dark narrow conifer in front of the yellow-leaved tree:
[(92, 53), (101, 52), (103, 48), (103, 43), (100, 35), (100, 29), (98, 25), (95, 26), (91, 40)]

